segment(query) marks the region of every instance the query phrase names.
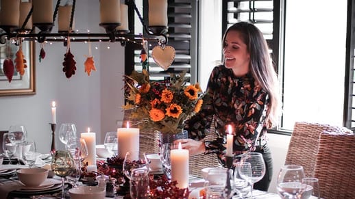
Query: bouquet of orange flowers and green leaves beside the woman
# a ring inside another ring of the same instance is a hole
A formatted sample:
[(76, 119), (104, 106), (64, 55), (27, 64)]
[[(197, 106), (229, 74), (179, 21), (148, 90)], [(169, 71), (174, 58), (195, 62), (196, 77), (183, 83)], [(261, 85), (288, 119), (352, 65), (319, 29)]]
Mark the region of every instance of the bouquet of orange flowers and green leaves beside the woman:
[(186, 72), (171, 75), (170, 81), (149, 81), (149, 72), (134, 70), (125, 76), (127, 90), (123, 109), (132, 109), (132, 118), (162, 133), (180, 133), (184, 121), (201, 109), (199, 84), (188, 85)]

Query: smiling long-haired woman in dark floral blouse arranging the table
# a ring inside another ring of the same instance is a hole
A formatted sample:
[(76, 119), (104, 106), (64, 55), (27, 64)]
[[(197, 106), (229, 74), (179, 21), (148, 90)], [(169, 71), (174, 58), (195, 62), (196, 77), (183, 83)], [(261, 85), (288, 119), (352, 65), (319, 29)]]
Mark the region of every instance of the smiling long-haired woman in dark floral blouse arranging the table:
[[(255, 189), (267, 191), (272, 176), (272, 159), (267, 147), (267, 129), (278, 118), (278, 79), (267, 42), (250, 23), (236, 23), (223, 36), (224, 64), (210, 75), (204, 105), (186, 121), (189, 139), (177, 140), (191, 155), (217, 153), (224, 164), (226, 127), (232, 125), (234, 157), (244, 152), (262, 153), (267, 172)], [(215, 122), (217, 140), (199, 141)]]

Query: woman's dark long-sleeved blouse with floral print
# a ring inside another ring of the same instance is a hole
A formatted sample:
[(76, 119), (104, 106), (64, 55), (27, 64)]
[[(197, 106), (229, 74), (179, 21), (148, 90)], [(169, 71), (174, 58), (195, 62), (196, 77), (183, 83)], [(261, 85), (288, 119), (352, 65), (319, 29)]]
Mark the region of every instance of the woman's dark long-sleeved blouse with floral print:
[(201, 111), (185, 123), (188, 137), (201, 140), (215, 119), (216, 140), (206, 140), (206, 152), (217, 153), (223, 163), (228, 124), (234, 134), (233, 152), (240, 155), (266, 144), (265, 115), (268, 94), (251, 74), (235, 77), (232, 70), (216, 66), (210, 75)]

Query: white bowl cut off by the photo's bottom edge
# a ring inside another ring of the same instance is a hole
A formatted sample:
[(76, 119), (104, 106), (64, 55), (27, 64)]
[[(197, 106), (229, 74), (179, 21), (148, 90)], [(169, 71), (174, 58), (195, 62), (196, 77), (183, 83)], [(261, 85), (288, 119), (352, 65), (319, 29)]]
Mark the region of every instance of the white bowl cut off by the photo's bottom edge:
[(106, 191), (104, 187), (78, 186), (69, 189), (69, 195), (72, 199), (101, 199), (105, 198)]

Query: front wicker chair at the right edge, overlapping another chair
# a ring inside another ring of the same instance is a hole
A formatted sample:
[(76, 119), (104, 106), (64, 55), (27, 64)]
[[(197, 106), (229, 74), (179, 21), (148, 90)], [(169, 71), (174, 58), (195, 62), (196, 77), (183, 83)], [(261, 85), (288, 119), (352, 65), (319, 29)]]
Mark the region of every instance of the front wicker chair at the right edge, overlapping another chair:
[(355, 135), (321, 133), (315, 165), (321, 198), (355, 198)]

